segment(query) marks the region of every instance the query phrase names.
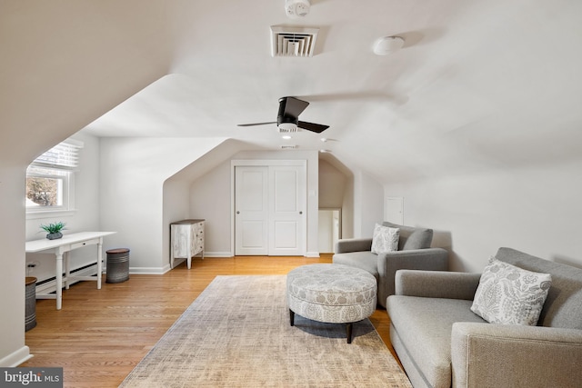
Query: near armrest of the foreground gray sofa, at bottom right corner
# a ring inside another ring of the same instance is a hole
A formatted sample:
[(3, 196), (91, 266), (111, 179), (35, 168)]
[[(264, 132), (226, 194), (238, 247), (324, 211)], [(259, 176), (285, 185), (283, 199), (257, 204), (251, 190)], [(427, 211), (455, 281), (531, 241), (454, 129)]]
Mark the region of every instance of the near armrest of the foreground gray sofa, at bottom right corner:
[(453, 387), (579, 386), (582, 330), (453, 323)]

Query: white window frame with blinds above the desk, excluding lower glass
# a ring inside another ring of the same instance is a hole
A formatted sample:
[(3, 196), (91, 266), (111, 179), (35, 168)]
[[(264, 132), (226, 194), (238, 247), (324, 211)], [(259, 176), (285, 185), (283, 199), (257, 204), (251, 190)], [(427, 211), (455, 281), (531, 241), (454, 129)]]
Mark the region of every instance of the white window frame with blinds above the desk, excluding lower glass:
[(61, 205), (58, 206), (26, 206), (27, 219), (75, 214), (75, 172), (78, 171), (78, 151), (82, 147), (82, 142), (67, 139), (40, 155), (28, 166), (26, 178), (35, 176), (62, 180), (62, 198)]

